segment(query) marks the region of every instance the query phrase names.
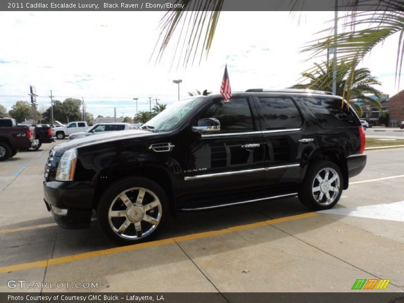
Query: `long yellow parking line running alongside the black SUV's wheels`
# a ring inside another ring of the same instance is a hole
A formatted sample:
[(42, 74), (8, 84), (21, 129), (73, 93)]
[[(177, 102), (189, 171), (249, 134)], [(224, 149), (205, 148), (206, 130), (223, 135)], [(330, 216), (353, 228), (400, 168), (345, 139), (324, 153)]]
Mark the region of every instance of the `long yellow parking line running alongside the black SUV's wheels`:
[(278, 224), (278, 223), (282, 223), (282, 222), (288, 222), (288, 221), (309, 218), (309, 217), (314, 217), (314, 216), (317, 216), (317, 214), (316, 213), (306, 213), (306, 214), (283, 217), (283, 218), (279, 218), (279, 219), (267, 220), (267, 221), (252, 223), (252, 224), (244, 224), (244, 225), (229, 227), (229, 228), (225, 228), (225, 229), (221, 229), (221, 230), (199, 232), (199, 233), (195, 233), (192, 235), (178, 236), (178, 237), (172, 237), (172, 238), (157, 240), (157, 241), (152, 241), (152, 242), (145, 242), (145, 243), (133, 244), (133, 245), (128, 245), (128, 246), (120, 246), (120, 247), (114, 247), (114, 248), (108, 248), (108, 249), (102, 249), (102, 250), (95, 250), (95, 251), (90, 251), (90, 252), (84, 252), (82, 254), (77, 254), (77, 255), (59, 257), (59, 258), (55, 258), (55, 259), (16, 264), (16, 265), (11, 265), (11, 266), (6, 266), (6, 267), (0, 267), (0, 273), (15, 272), (15, 271), (33, 269), (33, 268), (41, 268), (41, 267), (57, 265), (57, 264), (62, 264), (62, 263), (70, 263), (70, 262), (74, 262), (74, 261), (79, 261), (79, 260), (84, 260), (84, 259), (89, 259), (89, 258), (94, 258), (94, 257), (99, 257), (99, 256), (117, 254), (119, 252), (124, 252), (124, 251), (129, 251), (129, 250), (135, 250), (135, 249), (165, 245), (165, 244), (170, 244), (170, 243), (175, 243), (175, 242), (182, 242), (182, 241), (206, 238), (206, 237), (231, 233), (234, 231), (246, 230), (246, 229), (265, 226), (265, 225)]

